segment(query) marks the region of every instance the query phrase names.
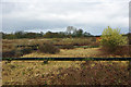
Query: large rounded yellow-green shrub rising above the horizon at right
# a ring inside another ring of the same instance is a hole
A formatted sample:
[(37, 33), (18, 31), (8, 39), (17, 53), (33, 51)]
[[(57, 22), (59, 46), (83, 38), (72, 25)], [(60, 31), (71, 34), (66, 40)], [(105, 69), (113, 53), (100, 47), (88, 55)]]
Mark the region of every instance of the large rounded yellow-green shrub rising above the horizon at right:
[(118, 46), (127, 44), (127, 38), (120, 34), (120, 29), (112, 29), (109, 26), (104, 29), (100, 38), (100, 45), (108, 52), (115, 52)]

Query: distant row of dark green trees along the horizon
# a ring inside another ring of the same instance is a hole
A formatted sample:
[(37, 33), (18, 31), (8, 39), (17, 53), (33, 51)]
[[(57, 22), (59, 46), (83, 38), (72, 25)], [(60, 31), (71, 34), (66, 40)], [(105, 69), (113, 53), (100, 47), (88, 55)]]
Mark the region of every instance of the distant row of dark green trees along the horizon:
[(59, 33), (27, 33), (27, 32), (16, 32), (11, 34), (1, 33), (3, 39), (21, 39), (21, 38), (67, 38), (67, 37), (90, 37), (93, 36), (90, 33), (83, 32), (83, 29), (72, 29), (67, 28), (67, 32)]

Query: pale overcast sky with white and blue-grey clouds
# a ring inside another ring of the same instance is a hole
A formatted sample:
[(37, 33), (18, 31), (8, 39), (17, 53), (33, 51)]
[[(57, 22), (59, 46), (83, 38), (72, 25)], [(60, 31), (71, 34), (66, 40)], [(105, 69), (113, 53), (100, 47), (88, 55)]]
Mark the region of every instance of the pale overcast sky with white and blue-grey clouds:
[(64, 32), (68, 26), (74, 26), (100, 35), (110, 26), (128, 33), (129, 1), (2, 0), (2, 32)]

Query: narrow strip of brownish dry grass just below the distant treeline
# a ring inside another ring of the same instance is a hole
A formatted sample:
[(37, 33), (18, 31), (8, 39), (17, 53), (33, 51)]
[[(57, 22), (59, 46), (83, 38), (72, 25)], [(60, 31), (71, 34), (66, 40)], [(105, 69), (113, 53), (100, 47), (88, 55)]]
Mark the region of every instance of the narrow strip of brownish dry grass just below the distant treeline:
[(34, 45), (39, 42), (52, 42), (53, 45), (90, 45), (92, 44), (91, 38), (44, 38), (44, 39), (2, 39), (3, 44), (16, 44), (16, 45)]

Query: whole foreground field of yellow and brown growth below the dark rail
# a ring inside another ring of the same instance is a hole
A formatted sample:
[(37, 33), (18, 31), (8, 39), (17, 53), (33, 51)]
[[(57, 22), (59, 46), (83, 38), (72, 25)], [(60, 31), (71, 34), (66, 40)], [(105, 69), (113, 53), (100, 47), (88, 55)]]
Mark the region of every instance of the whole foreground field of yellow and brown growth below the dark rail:
[(2, 61), (3, 85), (127, 85), (128, 61)]

